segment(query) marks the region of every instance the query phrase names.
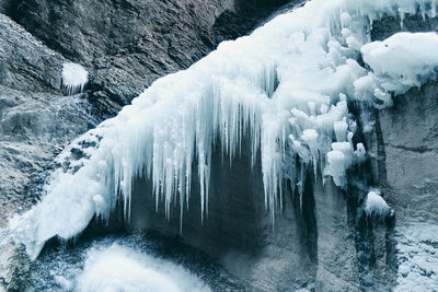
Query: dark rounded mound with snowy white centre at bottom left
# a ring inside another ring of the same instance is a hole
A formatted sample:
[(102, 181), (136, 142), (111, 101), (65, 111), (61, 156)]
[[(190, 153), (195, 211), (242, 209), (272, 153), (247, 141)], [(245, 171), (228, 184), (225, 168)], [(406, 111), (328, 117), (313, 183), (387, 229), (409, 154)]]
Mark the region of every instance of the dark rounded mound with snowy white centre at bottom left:
[(239, 280), (197, 252), (154, 234), (115, 234), (45, 250), (28, 291), (227, 291)]

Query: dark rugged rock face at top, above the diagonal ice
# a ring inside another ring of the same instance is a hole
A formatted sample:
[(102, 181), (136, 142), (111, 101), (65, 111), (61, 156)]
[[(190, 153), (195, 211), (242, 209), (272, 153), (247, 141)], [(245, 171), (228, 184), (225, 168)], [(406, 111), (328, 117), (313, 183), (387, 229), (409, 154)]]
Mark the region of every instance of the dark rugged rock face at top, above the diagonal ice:
[[(10, 1), (8, 15), (91, 73), (88, 97), (115, 114), (157, 78), (250, 32), (286, 0)], [(297, 1), (292, 1), (297, 2)]]

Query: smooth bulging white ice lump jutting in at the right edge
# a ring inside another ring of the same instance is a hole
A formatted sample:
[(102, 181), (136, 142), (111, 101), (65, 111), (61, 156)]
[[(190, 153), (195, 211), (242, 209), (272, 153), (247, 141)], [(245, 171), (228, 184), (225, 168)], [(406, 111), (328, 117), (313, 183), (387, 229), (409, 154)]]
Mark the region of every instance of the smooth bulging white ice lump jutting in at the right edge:
[(364, 61), (373, 72), (355, 82), (356, 94), (358, 97), (368, 94), (384, 106), (391, 105), (389, 92), (403, 94), (437, 78), (437, 48), (436, 33), (399, 33), (362, 46)]

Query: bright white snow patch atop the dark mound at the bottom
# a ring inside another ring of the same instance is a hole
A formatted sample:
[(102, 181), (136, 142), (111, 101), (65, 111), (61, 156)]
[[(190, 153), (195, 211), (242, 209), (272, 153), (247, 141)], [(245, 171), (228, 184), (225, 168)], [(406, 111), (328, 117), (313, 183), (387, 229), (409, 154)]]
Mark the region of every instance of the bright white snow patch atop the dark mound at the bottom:
[(91, 249), (77, 279), (78, 291), (210, 291), (194, 275), (137, 250), (114, 244)]

